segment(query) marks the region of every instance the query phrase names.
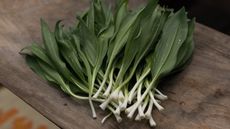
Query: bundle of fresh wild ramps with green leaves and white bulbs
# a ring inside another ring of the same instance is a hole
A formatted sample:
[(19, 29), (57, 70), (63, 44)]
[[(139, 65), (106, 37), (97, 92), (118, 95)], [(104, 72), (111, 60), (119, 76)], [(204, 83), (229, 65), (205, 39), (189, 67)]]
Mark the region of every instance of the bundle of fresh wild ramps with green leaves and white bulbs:
[[(89, 10), (77, 17), (76, 25), (55, 31), (41, 20), (43, 46), (24, 48), (27, 64), (43, 79), (77, 99), (108, 109), (118, 122), (128, 118), (156, 123), (152, 110), (164, 108), (167, 99), (158, 89), (165, 76), (183, 69), (193, 53), (194, 20), (185, 9), (176, 13), (160, 7), (157, 0), (135, 10), (119, 0), (115, 9), (102, 0), (92, 0)], [(115, 13), (113, 13), (115, 12)]]

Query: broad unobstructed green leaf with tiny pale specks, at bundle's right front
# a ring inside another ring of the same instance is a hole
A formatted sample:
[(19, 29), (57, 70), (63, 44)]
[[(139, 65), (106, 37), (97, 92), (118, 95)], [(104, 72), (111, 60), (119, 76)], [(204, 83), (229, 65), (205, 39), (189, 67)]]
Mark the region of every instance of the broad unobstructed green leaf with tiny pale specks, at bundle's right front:
[(185, 9), (171, 16), (164, 28), (153, 56), (152, 76), (156, 79), (171, 72), (176, 65), (179, 48), (188, 33)]

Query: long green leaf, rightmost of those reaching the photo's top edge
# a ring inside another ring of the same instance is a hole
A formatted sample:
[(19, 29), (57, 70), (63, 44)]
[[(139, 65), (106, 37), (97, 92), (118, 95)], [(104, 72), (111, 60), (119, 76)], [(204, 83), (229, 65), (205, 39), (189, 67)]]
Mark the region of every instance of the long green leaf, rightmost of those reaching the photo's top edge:
[[(149, 39), (152, 37), (152, 35), (149, 34), (150, 31), (148, 30), (149, 28), (150, 29), (152, 28), (152, 24), (154, 23), (155, 17), (152, 18), (151, 20), (149, 20), (149, 17), (151, 17), (153, 15), (154, 10), (156, 10), (155, 8), (157, 6), (157, 2), (158, 2), (157, 0), (149, 1), (149, 3), (146, 5), (143, 11), (140, 13), (134, 26), (132, 27), (131, 34), (129, 35), (129, 39), (125, 47), (122, 67), (118, 74), (118, 79), (117, 79), (118, 82), (120, 82), (124, 77), (124, 74), (130, 67), (138, 51), (143, 52), (143, 50), (140, 49), (141, 45), (146, 43), (151, 44)], [(146, 35), (145, 32), (148, 32), (148, 34)], [(148, 39), (143, 40), (144, 37), (147, 37)]]

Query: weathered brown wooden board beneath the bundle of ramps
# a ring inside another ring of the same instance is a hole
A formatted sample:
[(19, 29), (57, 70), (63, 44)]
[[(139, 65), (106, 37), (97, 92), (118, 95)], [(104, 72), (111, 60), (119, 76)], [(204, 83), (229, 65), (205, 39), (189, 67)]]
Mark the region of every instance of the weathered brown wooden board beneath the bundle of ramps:
[[(48, 86), (18, 54), (41, 41), (40, 17), (50, 25), (59, 19), (69, 24), (86, 7), (83, 0), (1, 0), (0, 83), (64, 129), (149, 129), (147, 121), (118, 124), (114, 118), (101, 125), (105, 113), (97, 109), (99, 117), (92, 119), (87, 102)], [(230, 129), (230, 37), (197, 24), (195, 41), (191, 65), (161, 84), (170, 99), (162, 113), (153, 113), (156, 129)]]

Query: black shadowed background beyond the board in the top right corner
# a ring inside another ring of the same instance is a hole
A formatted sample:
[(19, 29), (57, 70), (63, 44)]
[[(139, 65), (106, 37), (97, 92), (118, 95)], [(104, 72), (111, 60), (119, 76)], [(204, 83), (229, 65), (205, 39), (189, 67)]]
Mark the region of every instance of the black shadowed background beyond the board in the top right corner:
[(176, 10), (185, 6), (189, 17), (230, 35), (230, 0), (160, 0), (160, 3)]

